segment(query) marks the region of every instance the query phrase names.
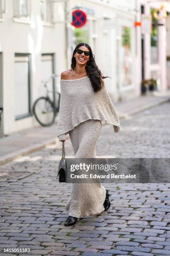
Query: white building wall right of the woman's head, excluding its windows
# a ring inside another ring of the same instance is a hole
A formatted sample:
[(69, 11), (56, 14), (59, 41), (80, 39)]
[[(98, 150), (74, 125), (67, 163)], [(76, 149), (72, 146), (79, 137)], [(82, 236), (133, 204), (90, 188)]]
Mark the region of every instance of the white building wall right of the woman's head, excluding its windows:
[[(114, 3), (113, 3), (114, 2)], [(96, 47), (93, 47), (93, 39), (90, 36), (89, 44), (95, 52), (97, 66), (106, 76), (108, 92), (114, 101), (136, 97), (136, 66), (135, 66), (135, 0), (130, 1), (101, 1), (101, 0), (71, 0), (71, 10), (80, 9), (87, 14), (87, 20), (92, 26), (92, 20), (96, 20)], [(132, 77), (131, 84), (123, 86), (121, 75), (122, 35), (123, 26), (130, 27), (132, 48)], [(74, 31), (74, 27), (70, 26)], [(73, 38), (72, 38), (73, 39)], [(72, 40), (73, 41), (73, 40)], [(76, 45), (72, 45), (72, 51)], [(71, 60), (72, 51), (70, 52)]]

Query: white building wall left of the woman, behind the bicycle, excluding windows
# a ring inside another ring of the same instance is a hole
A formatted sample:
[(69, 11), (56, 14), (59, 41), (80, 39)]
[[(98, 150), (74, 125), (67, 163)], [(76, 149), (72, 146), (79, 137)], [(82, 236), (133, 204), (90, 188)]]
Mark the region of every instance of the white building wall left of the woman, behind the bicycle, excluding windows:
[(3, 54), (3, 82), (0, 86), (3, 86), (5, 134), (37, 125), (33, 116), (15, 120), (15, 53), (31, 54), (31, 106), (36, 98), (40, 96), (41, 54), (55, 54), (56, 74), (60, 74), (65, 69), (64, 23), (42, 26), (40, 1), (31, 0), (30, 3), (29, 23), (13, 20), (12, 0), (7, 0), (7, 13), (4, 13), (0, 20), (0, 52)]

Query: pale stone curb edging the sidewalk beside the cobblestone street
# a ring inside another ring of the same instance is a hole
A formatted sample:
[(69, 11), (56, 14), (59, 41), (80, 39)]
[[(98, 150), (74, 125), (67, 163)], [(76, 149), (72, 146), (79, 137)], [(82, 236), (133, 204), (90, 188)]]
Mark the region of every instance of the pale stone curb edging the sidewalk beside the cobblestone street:
[[(144, 110), (155, 107), (157, 105), (161, 105), (161, 104), (169, 102), (169, 101), (170, 101), (170, 97), (167, 97), (166, 99), (160, 100), (159, 102), (154, 102), (154, 103), (145, 105), (142, 108), (138, 108), (138, 110), (134, 110), (134, 111), (132, 111), (131, 113), (128, 113), (128, 114), (119, 113), (118, 114), (119, 119), (126, 119), (130, 115), (135, 115), (135, 114), (140, 113)], [(106, 125), (106, 123), (103, 123), (103, 126), (104, 125)], [(67, 135), (66, 138), (69, 138), (69, 135)], [(28, 146), (26, 148), (22, 148), (18, 151), (15, 151), (15, 153), (13, 152), (13, 153), (10, 153), (10, 154), (6, 154), (4, 157), (3, 156), (0, 157), (0, 165), (6, 164), (7, 162), (13, 161), (14, 159), (17, 159), (21, 156), (25, 156), (27, 154), (38, 151), (42, 148), (45, 148), (45, 146), (52, 145), (52, 144), (59, 143), (59, 142), (60, 141), (58, 141), (57, 138), (51, 138), (51, 139), (43, 141), (42, 143), (36, 143), (33, 146)]]

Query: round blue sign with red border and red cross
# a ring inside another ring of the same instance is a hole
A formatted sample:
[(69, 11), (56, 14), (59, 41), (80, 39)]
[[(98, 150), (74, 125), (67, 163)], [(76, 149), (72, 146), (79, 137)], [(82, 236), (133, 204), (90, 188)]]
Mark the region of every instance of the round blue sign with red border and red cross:
[(72, 26), (75, 26), (76, 28), (81, 28), (85, 25), (86, 21), (86, 14), (82, 10), (77, 9), (72, 12)]

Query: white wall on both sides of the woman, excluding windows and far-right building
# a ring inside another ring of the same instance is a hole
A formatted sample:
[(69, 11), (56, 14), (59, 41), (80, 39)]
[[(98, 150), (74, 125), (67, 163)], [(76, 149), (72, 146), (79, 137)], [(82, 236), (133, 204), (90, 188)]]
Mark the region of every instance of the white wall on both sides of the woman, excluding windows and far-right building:
[[(90, 41), (96, 57), (96, 63), (103, 74), (112, 77), (105, 79), (105, 84), (114, 101), (136, 97), (139, 94), (136, 83), (136, 28), (135, 0), (107, 1), (107, 0), (69, 0), (56, 2), (54, 5), (55, 25), (43, 26), (40, 18), (40, 1), (30, 0), (30, 22), (16, 22), (13, 20), (13, 1), (7, 1), (7, 13), (0, 19), (0, 52), (3, 54), (3, 108), (4, 108), (4, 133), (9, 134), (25, 128), (37, 126), (33, 116), (15, 120), (15, 53), (30, 54), (30, 90), (31, 107), (37, 97), (42, 94), (42, 54), (54, 54), (54, 71), (56, 74), (70, 69), (73, 42), (73, 29), (70, 24), (72, 10), (85, 8), (87, 20), (90, 21)], [(65, 13), (67, 8), (68, 40), (65, 37)], [(90, 13), (90, 11), (92, 11)], [(96, 31), (93, 31), (92, 23), (96, 22)], [(130, 28), (131, 44), (131, 82), (122, 84), (122, 29)], [(95, 44), (94, 44), (95, 41)], [(67, 52), (67, 58), (66, 58)], [(45, 67), (45, 66), (44, 66)], [(44, 75), (44, 72), (43, 72)], [(59, 87), (60, 77), (57, 79)], [(2, 90), (0, 90), (2, 91)], [(22, 97), (22, 95), (21, 95)]]

